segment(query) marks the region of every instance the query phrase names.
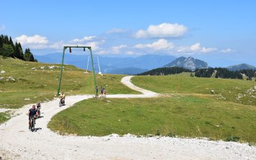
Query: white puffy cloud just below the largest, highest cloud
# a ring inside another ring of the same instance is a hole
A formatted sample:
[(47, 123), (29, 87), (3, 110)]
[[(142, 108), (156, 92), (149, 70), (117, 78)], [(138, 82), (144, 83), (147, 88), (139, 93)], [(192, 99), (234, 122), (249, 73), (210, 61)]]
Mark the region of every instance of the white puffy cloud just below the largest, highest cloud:
[(136, 49), (150, 49), (154, 51), (170, 51), (174, 48), (174, 45), (172, 42), (168, 42), (164, 38), (161, 38), (157, 40), (156, 42), (153, 42), (152, 44), (137, 44), (134, 46)]

